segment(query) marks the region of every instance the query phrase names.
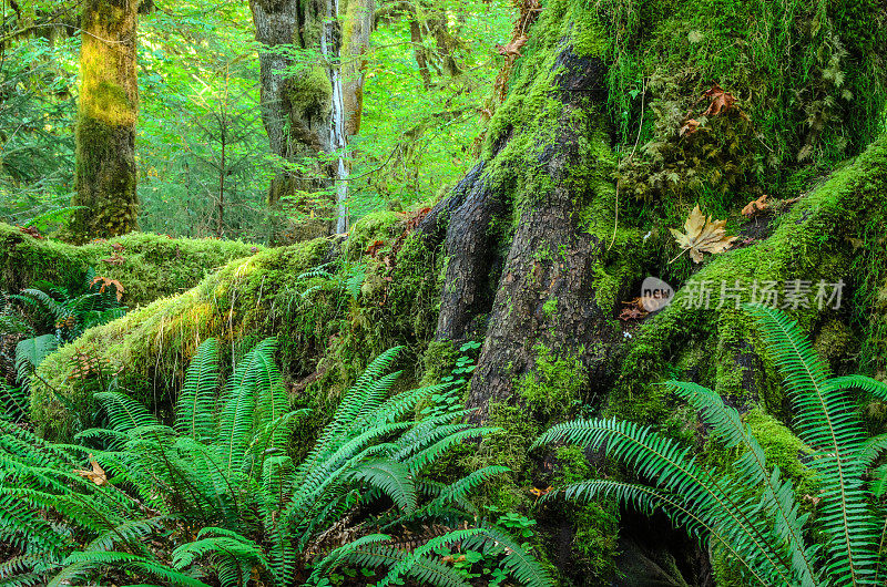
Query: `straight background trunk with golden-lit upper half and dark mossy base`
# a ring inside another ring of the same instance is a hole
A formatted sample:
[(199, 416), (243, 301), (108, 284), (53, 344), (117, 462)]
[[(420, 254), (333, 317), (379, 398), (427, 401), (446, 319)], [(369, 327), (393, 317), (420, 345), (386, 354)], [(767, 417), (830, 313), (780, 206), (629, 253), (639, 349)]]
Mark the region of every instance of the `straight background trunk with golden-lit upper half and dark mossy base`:
[(135, 192), (135, 27), (139, 0), (86, 0), (82, 16), (80, 106), (77, 123), (79, 240), (133, 230)]

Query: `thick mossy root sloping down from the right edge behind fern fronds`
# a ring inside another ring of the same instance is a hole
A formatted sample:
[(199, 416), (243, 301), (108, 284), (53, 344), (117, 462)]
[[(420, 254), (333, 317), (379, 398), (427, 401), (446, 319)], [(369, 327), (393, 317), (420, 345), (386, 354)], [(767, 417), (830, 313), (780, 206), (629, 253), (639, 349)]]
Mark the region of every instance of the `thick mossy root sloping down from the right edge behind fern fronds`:
[[(682, 378), (689, 374), (669, 372), (669, 364), (675, 359), (680, 363), (680, 357), (694, 347), (701, 346), (705, 352), (712, 352), (718, 346), (730, 346), (737, 331), (752, 331), (748, 319), (730, 308), (732, 302), (726, 308), (717, 308), (722, 282), (733, 286), (738, 279), (747, 285), (745, 301), (748, 301), (751, 285), (755, 280), (759, 284), (776, 281), (781, 290), (783, 284), (795, 279), (814, 285), (820, 279), (829, 284), (844, 279), (849, 287), (859, 277), (850, 274), (852, 260), (857, 253), (848, 239), (857, 237), (865, 224), (861, 218), (873, 210), (883, 209), (885, 189), (887, 136), (835, 172), (791, 212), (776, 219), (777, 227), (769, 238), (708, 259), (677, 290), (671, 306), (645, 322), (635, 334), (622, 375), (610, 397), (609, 412), (648, 422), (667, 420), (669, 399), (661, 388), (651, 383), (666, 375)], [(708, 309), (689, 307), (690, 296), (699, 294), (702, 284), (712, 288), (712, 306)], [(849, 303), (846, 298), (844, 302)], [(817, 331), (824, 320), (842, 317), (830, 307), (819, 309), (815, 303), (810, 306), (789, 308), (808, 332)], [(764, 367), (769, 377), (775, 377), (773, 365), (765, 362)], [(724, 367), (720, 372), (708, 371), (715, 378), (724, 372)], [(712, 388), (717, 385), (715, 379), (705, 377), (700, 382)], [(727, 385), (732, 387), (730, 382)], [(776, 381), (764, 383), (759, 391), (762, 401), (769, 406), (778, 409), (783, 405)]]

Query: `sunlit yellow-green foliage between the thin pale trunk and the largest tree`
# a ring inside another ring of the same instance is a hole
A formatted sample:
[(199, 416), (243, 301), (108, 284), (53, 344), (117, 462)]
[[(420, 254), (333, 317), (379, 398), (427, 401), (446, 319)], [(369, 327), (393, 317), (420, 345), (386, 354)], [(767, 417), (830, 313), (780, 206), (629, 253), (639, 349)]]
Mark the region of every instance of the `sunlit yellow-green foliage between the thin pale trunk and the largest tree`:
[(508, 41), (512, 19), (512, 8), (501, 1), (379, 11), (361, 128), (349, 146), (354, 218), (427, 202), (468, 169), (502, 60), (495, 44)]

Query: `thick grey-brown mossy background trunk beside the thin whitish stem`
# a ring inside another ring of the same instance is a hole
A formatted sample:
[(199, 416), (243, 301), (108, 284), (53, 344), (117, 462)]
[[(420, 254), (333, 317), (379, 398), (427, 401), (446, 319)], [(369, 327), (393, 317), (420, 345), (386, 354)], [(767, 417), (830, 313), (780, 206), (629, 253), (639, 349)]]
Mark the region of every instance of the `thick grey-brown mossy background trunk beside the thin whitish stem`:
[[(251, 0), (259, 51), (262, 120), (272, 151), (285, 166), (272, 181), (268, 204), (278, 218), (273, 240), (304, 240), (330, 234), (335, 165), (318, 155), (333, 152), (340, 31), (335, 0)], [(306, 64), (305, 61), (313, 63)], [(340, 122), (339, 122), (340, 124)], [(284, 204), (284, 198), (287, 202)]]

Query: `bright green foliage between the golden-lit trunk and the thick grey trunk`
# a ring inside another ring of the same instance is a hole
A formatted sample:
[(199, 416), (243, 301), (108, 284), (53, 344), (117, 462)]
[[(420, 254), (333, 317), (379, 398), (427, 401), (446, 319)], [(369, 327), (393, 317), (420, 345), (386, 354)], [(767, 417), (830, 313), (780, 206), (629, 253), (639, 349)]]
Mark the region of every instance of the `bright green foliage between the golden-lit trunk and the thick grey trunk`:
[(177, 0), (139, 29), (140, 228), (267, 240), (273, 166), (248, 6)]

